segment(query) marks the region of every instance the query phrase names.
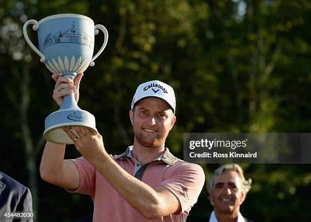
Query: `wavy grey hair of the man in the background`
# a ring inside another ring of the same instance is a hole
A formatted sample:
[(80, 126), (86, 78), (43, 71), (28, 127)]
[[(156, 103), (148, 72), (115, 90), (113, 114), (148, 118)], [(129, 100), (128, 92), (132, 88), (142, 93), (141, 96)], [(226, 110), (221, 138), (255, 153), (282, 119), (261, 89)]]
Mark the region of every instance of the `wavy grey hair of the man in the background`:
[[(211, 177), (207, 181), (207, 191), (210, 193), (211, 189), (213, 188), (214, 180), (216, 176), (221, 175), (223, 172), (230, 172), (230, 171), (235, 171), (239, 175), (241, 182), (242, 182), (242, 193), (244, 197), (246, 197), (246, 194), (248, 191), (250, 191), (252, 187), (252, 179), (245, 180), (244, 175), (243, 175), (243, 170), (241, 166), (235, 163), (227, 163), (225, 165), (222, 165), (220, 168), (216, 169)], [(213, 205), (212, 201), (210, 203)]]

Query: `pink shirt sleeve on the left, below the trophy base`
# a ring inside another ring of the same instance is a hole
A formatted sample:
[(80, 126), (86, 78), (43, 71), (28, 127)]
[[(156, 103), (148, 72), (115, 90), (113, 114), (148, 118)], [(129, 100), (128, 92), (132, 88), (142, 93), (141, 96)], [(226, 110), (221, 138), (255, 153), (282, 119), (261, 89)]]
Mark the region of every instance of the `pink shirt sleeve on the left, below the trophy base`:
[(71, 159), (76, 165), (79, 176), (80, 185), (76, 189), (67, 189), (69, 192), (78, 192), (85, 195), (90, 195), (94, 199), (95, 193), (95, 166), (91, 164), (84, 156), (76, 159)]

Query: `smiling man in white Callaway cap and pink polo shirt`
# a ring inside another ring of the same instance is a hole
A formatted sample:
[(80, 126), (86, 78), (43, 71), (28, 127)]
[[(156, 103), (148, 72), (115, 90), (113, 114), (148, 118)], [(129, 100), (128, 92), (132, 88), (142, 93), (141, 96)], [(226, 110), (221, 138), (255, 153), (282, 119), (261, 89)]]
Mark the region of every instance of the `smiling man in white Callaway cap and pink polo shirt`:
[[(52, 77), (56, 81), (53, 99), (61, 105), (63, 96), (78, 91), (82, 73), (75, 82), (61, 73)], [(75, 99), (79, 99), (77, 93)], [(109, 221), (185, 221), (204, 185), (204, 172), (164, 147), (176, 121), (174, 114), (173, 89), (158, 80), (145, 82), (137, 88), (129, 112), (133, 146), (112, 157), (100, 133), (64, 127), (82, 157), (64, 160), (65, 145), (47, 142), (41, 177), (71, 192), (90, 195), (94, 221), (108, 217)]]

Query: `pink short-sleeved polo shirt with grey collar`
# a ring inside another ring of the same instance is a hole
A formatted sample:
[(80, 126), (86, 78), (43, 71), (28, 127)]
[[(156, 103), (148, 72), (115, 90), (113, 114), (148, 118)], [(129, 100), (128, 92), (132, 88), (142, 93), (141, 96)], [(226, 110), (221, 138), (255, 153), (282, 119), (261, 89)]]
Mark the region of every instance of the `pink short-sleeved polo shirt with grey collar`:
[[(184, 162), (165, 148), (161, 158), (141, 166), (134, 174), (137, 163), (128, 156), (131, 148), (112, 158), (130, 175), (152, 188), (158, 185), (167, 187), (180, 201), (181, 211), (151, 221), (185, 221), (204, 185), (205, 176), (201, 166)], [(80, 186), (68, 191), (91, 197), (94, 202), (93, 221), (150, 221), (128, 204), (83, 156), (72, 161), (79, 171)]]

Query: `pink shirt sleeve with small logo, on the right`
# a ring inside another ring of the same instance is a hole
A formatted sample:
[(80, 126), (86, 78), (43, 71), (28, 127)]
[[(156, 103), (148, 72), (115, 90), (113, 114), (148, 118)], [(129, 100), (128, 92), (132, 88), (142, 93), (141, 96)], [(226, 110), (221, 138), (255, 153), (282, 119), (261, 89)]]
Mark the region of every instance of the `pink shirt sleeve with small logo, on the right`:
[(176, 215), (184, 211), (189, 213), (191, 207), (197, 203), (200, 192), (204, 186), (204, 171), (198, 164), (182, 164), (170, 178), (159, 185), (165, 186), (178, 198), (181, 210)]

